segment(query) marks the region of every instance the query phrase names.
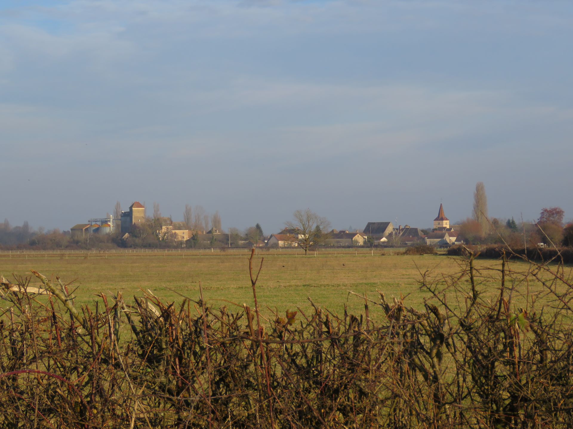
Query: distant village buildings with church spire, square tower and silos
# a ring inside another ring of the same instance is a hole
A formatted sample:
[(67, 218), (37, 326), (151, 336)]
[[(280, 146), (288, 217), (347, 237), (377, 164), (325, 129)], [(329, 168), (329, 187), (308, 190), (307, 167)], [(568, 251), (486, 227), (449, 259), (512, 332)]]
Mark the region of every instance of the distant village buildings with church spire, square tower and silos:
[[(257, 225), (258, 226), (258, 225)], [(70, 228), (73, 237), (91, 235), (117, 235), (128, 244), (130, 240), (141, 239), (144, 228), (151, 228), (158, 240), (172, 241), (182, 247), (297, 247), (302, 231), (299, 228), (285, 228), (268, 236), (254, 234), (233, 236), (233, 233), (220, 231), (220, 225), (214, 225), (209, 231), (194, 230), (184, 221), (173, 221), (170, 217), (146, 217), (146, 208), (135, 201), (129, 210), (121, 211), (120, 219), (113, 216), (89, 219), (85, 224)], [(450, 225), (439, 205), (438, 216), (433, 220), (431, 231), (414, 228), (410, 225), (394, 225), (391, 221), (368, 222), (362, 231), (336, 230), (324, 231), (321, 245), (327, 247), (364, 247), (364, 246), (407, 246), (427, 244), (438, 248), (447, 248), (454, 244), (463, 244), (458, 225)]]

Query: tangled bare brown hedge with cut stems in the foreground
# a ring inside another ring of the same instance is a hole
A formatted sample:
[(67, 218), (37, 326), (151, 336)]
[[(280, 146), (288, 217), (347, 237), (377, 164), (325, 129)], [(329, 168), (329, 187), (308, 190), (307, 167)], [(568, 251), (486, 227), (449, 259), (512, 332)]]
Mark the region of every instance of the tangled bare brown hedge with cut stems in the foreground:
[[(262, 320), (253, 256), (254, 307), (239, 312), (150, 292), (131, 303), (101, 294), (78, 310), (57, 277), (34, 272), (45, 289), (0, 277), (0, 426), (573, 427), (573, 332), (563, 323), (573, 285), (562, 271), (533, 262), (510, 271), (503, 260), (492, 296), (472, 254), (445, 285), (422, 279), (433, 297), (422, 311), (380, 293), (360, 296), (363, 315), (314, 306)], [(515, 288), (540, 271), (545, 299)], [(446, 288), (466, 299), (446, 305)]]

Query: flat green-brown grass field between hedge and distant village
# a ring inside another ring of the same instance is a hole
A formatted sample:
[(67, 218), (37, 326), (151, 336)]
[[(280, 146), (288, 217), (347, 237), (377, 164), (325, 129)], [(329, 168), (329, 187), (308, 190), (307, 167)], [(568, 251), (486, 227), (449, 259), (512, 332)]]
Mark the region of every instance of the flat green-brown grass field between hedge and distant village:
[[(386, 251), (388, 252), (388, 251)], [(402, 256), (363, 250), (318, 252), (303, 256), (300, 251), (261, 251), (264, 263), (257, 295), (264, 313), (269, 308), (279, 312), (300, 307), (310, 309), (310, 297), (317, 305), (342, 313), (344, 304), (350, 312), (362, 312), (363, 301), (348, 291), (366, 293), (376, 299), (382, 291), (387, 297), (407, 295), (406, 304), (421, 307), (427, 291), (419, 289), (420, 272), (430, 271), (429, 278), (441, 281), (444, 275), (460, 272), (461, 258), (445, 255)], [(178, 294), (197, 300), (199, 281), (205, 299), (215, 306), (233, 303), (253, 304), (248, 275), (248, 252), (186, 251), (165, 253), (21, 253), (0, 254), (0, 274), (28, 276), (35, 269), (45, 276), (60, 276), (64, 283), (73, 281), (76, 302), (87, 304), (97, 293), (121, 291), (127, 299), (150, 289), (167, 301), (180, 300)], [(497, 293), (500, 261), (479, 260), (476, 265), (490, 276), (481, 280), (480, 288)], [(524, 263), (512, 263), (525, 269)], [(39, 283), (36, 279), (32, 284)], [(531, 288), (540, 288), (530, 284)], [(268, 307), (265, 309), (265, 306)], [(239, 308), (237, 308), (237, 311)], [(373, 309), (374, 310), (374, 309)], [(375, 316), (375, 315), (373, 315)]]

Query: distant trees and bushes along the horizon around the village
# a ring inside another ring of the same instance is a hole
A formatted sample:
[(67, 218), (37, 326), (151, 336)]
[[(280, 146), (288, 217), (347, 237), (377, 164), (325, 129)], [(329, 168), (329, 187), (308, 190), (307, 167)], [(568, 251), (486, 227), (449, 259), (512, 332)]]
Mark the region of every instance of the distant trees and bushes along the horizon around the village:
[[(121, 218), (121, 204), (117, 201), (113, 210), (115, 219)], [(190, 231), (189, 239), (178, 240), (169, 228), (172, 224), (171, 217), (163, 217), (160, 206), (153, 203), (152, 215), (146, 217), (142, 224), (133, 225), (129, 239), (124, 240), (116, 225), (116, 232), (111, 235), (85, 235), (72, 236), (69, 231), (62, 232), (59, 229), (46, 231), (44, 228), (33, 230), (28, 221), (21, 226), (12, 226), (5, 219), (0, 223), (0, 248), (31, 248), (31, 249), (112, 249), (117, 247), (245, 247), (248, 245), (260, 245), (264, 240), (261, 225), (256, 224), (241, 231), (237, 228), (222, 229), (221, 216), (218, 210), (209, 214), (201, 205), (192, 207), (185, 205), (183, 210), (183, 223)], [(525, 222), (523, 219), (516, 221), (489, 217), (488, 203), (483, 182), (476, 184), (472, 217), (468, 217), (456, 226), (456, 230), (466, 244), (501, 244), (505, 243), (512, 247), (537, 246), (540, 243), (548, 247), (573, 246), (573, 221), (564, 222), (565, 212), (558, 206), (541, 209), (536, 221)], [(297, 245), (304, 251), (311, 247), (324, 244), (328, 239), (329, 221), (317, 215), (310, 209), (296, 210), (293, 218), (285, 222), (285, 228), (298, 230), (296, 237)], [(213, 234), (204, 234), (209, 230)], [(431, 232), (431, 229), (422, 229), (423, 233)], [(399, 241), (399, 240), (398, 240)], [(368, 242), (372, 245), (372, 242)], [(401, 243), (393, 243), (401, 244)]]

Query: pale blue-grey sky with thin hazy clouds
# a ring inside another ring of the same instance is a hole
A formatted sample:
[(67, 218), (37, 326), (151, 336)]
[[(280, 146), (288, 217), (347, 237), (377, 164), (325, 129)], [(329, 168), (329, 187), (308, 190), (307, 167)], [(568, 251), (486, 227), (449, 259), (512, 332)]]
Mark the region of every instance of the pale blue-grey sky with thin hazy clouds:
[(0, 218), (573, 219), (573, 2), (2, 0)]

